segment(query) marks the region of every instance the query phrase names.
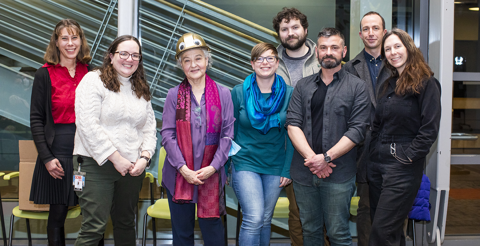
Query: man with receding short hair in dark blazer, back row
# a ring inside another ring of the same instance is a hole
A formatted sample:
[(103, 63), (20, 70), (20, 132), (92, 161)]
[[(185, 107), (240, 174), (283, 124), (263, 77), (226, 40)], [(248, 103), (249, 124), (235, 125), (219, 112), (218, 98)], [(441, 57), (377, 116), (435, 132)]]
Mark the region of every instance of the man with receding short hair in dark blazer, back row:
[(376, 98), (379, 88), (384, 81), (390, 77), (390, 71), (385, 68), (384, 61), (380, 55), (382, 49), (382, 38), (387, 32), (384, 18), (377, 12), (366, 13), (360, 21), (360, 38), (365, 49), (352, 60), (347, 62), (343, 68), (351, 74), (356, 75), (366, 82), (366, 89), (370, 93), (372, 111), (370, 126), (367, 128), (365, 141), (358, 146), (357, 150), (357, 193), (360, 197), (359, 208), (357, 209), (357, 234), (358, 245), (367, 246), (371, 220), (370, 201), (367, 183), (367, 163), (369, 158), (369, 143), (372, 139), (372, 123), (375, 117)]

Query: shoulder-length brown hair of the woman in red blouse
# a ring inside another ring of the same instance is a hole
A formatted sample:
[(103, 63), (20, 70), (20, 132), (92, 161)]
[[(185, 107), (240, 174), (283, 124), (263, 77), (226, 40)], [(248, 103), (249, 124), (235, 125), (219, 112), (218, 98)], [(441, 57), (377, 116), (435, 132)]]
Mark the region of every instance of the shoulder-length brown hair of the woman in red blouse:
[(53, 30), (52, 37), (50, 37), (50, 43), (48, 43), (43, 59), (50, 65), (57, 65), (60, 62), (60, 50), (57, 47), (57, 41), (63, 28), (67, 29), (68, 34), (72, 35), (76, 33), (80, 37), (81, 45), (80, 51), (78, 51), (77, 61), (84, 64), (92, 61), (92, 57), (90, 56), (90, 46), (88, 46), (84, 30), (72, 19), (63, 19), (57, 23)]

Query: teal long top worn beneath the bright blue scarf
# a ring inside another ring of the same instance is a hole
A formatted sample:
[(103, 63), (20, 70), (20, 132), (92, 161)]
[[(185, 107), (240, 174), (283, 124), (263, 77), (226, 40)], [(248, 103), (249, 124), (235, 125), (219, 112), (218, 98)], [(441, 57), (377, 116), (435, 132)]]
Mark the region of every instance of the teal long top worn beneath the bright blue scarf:
[[(263, 174), (279, 175), (290, 178), (290, 162), (293, 156), (293, 145), (283, 127), (287, 118), (288, 103), (293, 87), (286, 86), (285, 102), (279, 112), (282, 127), (273, 127), (263, 135), (252, 127), (245, 109), (243, 84), (232, 89), (234, 140), (240, 145), (240, 151), (232, 156), (236, 171), (251, 171)], [(268, 98), (271, 93), (262, 93)]]

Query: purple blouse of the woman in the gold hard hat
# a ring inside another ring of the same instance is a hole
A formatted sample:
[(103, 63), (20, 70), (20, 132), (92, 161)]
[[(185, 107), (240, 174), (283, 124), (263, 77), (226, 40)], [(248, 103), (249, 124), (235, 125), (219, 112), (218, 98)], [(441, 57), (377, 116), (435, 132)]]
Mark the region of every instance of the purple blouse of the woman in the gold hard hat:
[[(225, 185), (227, 176), (225, 175), (223, 166), (228, 160), (228, 151), (232, 144), (230, 138), (233, 139), (233, 122), (235, 121), (235, 118), (233, 117), (233, 103), (230, 90), (218, 84), (216, 84), (216, 87), (218, 89), (220, 104), (222, 106), (222, 130), (220, 131), (220, 142), (218, 143), (218, 148), (216, 149), (215, 156), (213, 157), (210, 166), (213, 166), (217, 172), (221, 173), (221, 183), (222, 185)], [(183, 159), (183, 155), (177, 143), (177, 126), (175, 123), (178, 91), (179, 86), (175, 86), (168, 90), (165, 105), (163, 107), (162, 130), (160, 131), (160, 134), (162, 135), (162, 145), (167, 152), (167, 157), (165, 158), (162, 170), (162, 185), (170, 191), (172, 196), (175, 190), (176, 171), (185, 165), (185, 160)], [(198, 106), (198, 102), (192, 92), (190, 93), (190, 97), (192, 98), (191, 108), (194, 109)], [(202, 111), (200, 112), (202, 120), (201, 126), (195, 125), (193, 119), (195, 119), (196, 115), (193, 112), (192, 120), (190, 122), (192, 128), (193, 166), (195, 171), (200, 169), (204, 158), (206, 138), (205, 93), (202, 94), (200, 106), (202, 107)], [(194, 188), (192, 202), (197, 203), (198, 186), (195, 186)]]

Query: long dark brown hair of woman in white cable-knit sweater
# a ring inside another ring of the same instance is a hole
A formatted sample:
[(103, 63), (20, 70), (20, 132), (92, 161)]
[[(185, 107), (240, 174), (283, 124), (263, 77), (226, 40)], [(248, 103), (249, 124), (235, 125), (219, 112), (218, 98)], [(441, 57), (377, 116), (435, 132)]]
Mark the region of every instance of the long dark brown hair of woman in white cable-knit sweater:
[[(100, 71), (100, 79), (103, 82), (105, 88), (113, 91), (119, 92), (120, 91), (120, 81), (118, 79), (118, 73), (113, 65), (111, 64), (112, 60), (110, 59), (110, 54), (115, 53), (120, 45), (120, 43), (128, 40), (133, 40), (135, 43), (138, 44), (138, 49), (140, 55), (142, 55), (142, 46), (136, 37), (130, 35), (123, 35), (117, 37), (113, 40), (110, 47), (108, 47), (107, 51), (103, 55), (103, 64), (101, 67), (97, 67), (94, 71)], [(144, 98), (146, 101), (149, 101), (152, 95), (150, 94), (150, 90), (148, 88), (147, 80), (145, 78), (145, 69), (144, 69), (144, 62), (143, 57), (140, 57), (140, 61), (138, 62), (137, 70), (132, 74), (130, 77), (130, 83), (132, 84), (132, 90), (138, 98)]]

